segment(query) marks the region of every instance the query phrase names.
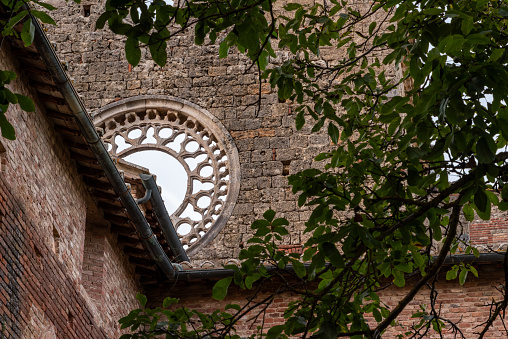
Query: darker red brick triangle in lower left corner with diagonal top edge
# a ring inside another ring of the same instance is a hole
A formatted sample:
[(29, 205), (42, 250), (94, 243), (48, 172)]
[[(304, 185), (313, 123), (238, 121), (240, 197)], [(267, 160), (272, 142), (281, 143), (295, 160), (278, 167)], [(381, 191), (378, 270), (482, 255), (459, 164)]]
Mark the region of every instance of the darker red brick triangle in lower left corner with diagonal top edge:
[(37, 232), (12, 187), (0, 178), (2, 338), (105, 338), (67, 267)]

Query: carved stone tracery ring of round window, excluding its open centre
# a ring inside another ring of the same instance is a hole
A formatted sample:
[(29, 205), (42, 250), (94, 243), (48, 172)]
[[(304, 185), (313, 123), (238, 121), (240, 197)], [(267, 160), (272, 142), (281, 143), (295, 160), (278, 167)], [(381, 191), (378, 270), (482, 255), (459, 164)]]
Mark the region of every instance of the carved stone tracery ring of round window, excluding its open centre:
[[(94, 115), (93, 122), (97, 128), (104, 130), (103, 141), (112, 145), (110, 154), (113, 157), (122, 158), (138, 151), (158, 150), (173, 156), (185, 168), (188, 175), (186, 196), (184, 202), (171, 215), (171, 219), (176, 229), (183, 223), (191, 225), (190, 233), (180, 237), (184, 247), (188, 246), (189, 256), (196, 254), (219, 234), (238, 199), (241, 174), (235, 142), (215, 116), (183, 99), (165, 95), (146, 95), (106, 105)], [(155, 131), (156, 144), (142, 143), (149, 128)], [(163, 128), (173, 130), (170, 137), (159, 136)], [(128, 138), (128, 134), (135, 129), (141, 129), (142, 135), (134, 140)], [(185, 135), (185, 139), (181, 142), (179, 153), (165, 146), (182, 134)], [(118, 135), (131, 146), (116, 154), (115, 138)], [(199, 144), (198, 150), (188, 152), (186, 145), (194, 141)], [(191, 170), (184, 160), (196, 157), (196, 154), (206, 154), (207, 163), (201, 162)], [(213, 174), (206, 178), (200, 174), (204, 166), (211, 166), (213, 170)], [(213, 188), (193, 193), (193, 180), (196, 179), (202, 183), (212, 182)], [(210, 198), (210, 205), (208, 208), (198, 208), (197, 200), (204, 195)], [(189, 204), (195, 212), (201, 214), (201, 221), (179, 218)], [(211, 217), (214, 220), (211, 220)]]

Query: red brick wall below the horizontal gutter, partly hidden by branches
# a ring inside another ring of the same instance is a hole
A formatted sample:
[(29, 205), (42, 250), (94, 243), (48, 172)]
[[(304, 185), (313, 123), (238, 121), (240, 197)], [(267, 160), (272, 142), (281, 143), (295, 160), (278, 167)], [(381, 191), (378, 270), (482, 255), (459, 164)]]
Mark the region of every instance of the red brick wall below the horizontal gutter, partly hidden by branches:
[[(477, 332), (480, 332), (483, 322), (488, 319), (490, 314), (490, 303), (493, 299), (501, 300), (501, 294), (495, 289), (499, 287), (504, 280), (503, 270), (500, 265), (484, 264), (475, 265), (479, 272), (479, 278), (469, 275), (466, 283), (461, 286), (457, 279), (447, 281), (444, 273), (440, 276), (436, 284), (437, 299), (436, 309), (440, 308), (441, 316), (455, 322), (459, 329), (463, 332), (465, 338), (476, 338)], [(446, 272), (446, 268), (443, 269)], [(380, 293), (381, 301), (386, 303), (388, 307), (395, 307), (400, 298), (407, 293), (413, 286), (414, 281), (408, 280), (405, 288), (397, 288), (395, 286)], [(178, 284), (172, 289), (168, 290), (154, 290), (149, 295), (149, 306), (156, 307), (162, 305), (162, 300), (171, 296), (180, 298), (179, 307), (188, 307), (196, 309), (201, 312), (211, 313), (216, 309), (224, 309), (227, 304), (236, 303), (241, 306), (247, 303), (247, 298), (254, 294), (254, 290), (258, 286), (254, 286), (253, 290), (246, 291), (231, 285), (227, 297), (222, 301), (215, 301), (212, 299), (212, 282), (199, 282), (193, 285)], [(260, 289), (260, 293), (254, 299), (260, 301), (267, 297), (269, 293), (273, 293), (278, 286), (276, 284), (266, 284)], [(415, 297), (415, 299), (408, 305), (408, 307), (397, 318), (397, 325), (390, 328), (383, 338), (395, 338), (398, 334), (404, 334), (410, 330), (411, 325), (417, 323), (415, 319), (411, 318), (413, 312), (420, 310), (420, 305), (429, 307), (429, 288), (425, 287)], [(274, 325), (284, 323), (284, 310), (289, 302), (297, 299), (297, 296), (290, 293), (276, 296), (273, 303), (266, 308), (260, 315), (256, 322), (248, 321), (253, 318), (258, 312), (251, 312), (245, 316), (242, 321), (236, 326), (237, 333), (241, 337), (248, 337), (256, 333), (256, 327), (265, 324), (265, 330), (268, 330)], [(503, 324), (500, 320), (494, 323), (494, 326), (487, 332), (485, 338), (504, 338)], [(458, 336), (460, 337), (460, 336)], [(430, 331), (425, 338), (439, 338), (439, 335)], [(451, 333), (451, 327), (447, 326), (443, 331), (443, 338), (454, 338)]]

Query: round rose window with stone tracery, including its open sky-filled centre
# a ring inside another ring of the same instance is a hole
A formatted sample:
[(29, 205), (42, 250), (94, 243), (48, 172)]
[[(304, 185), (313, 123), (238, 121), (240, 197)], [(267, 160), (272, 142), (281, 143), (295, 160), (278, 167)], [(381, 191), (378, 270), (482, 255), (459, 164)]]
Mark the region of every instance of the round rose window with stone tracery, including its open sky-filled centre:
[(188, 255), (215, 238), (240, 184), (238, 151), (217, 118), (181, 99), (143, 96), (107, 105), (94, 123), (113, 157), (156, 174)]

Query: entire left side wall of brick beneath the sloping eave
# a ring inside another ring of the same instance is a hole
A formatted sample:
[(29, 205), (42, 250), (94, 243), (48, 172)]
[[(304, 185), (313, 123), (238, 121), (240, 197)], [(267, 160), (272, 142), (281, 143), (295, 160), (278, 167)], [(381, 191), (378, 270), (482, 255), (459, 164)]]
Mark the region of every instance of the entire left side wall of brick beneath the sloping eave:
[[(0, 69), (18, 74), (9, 88), (36, 98), (11, 55), (6, 41)], [(36, 107), (27, 113), (12, 105), (7, 119), (16, 140), (2, 140), (0, 323), (12, 338), (116, 336), (116, 321), (137, 305), (140, 287), (106, 223), (100, 227), (108, 297), (100, 299), (100, 310), (83, 287), (83, 261), (90, 259), (85, 225), (97, 208), (43, 106), (36, 101)]]

